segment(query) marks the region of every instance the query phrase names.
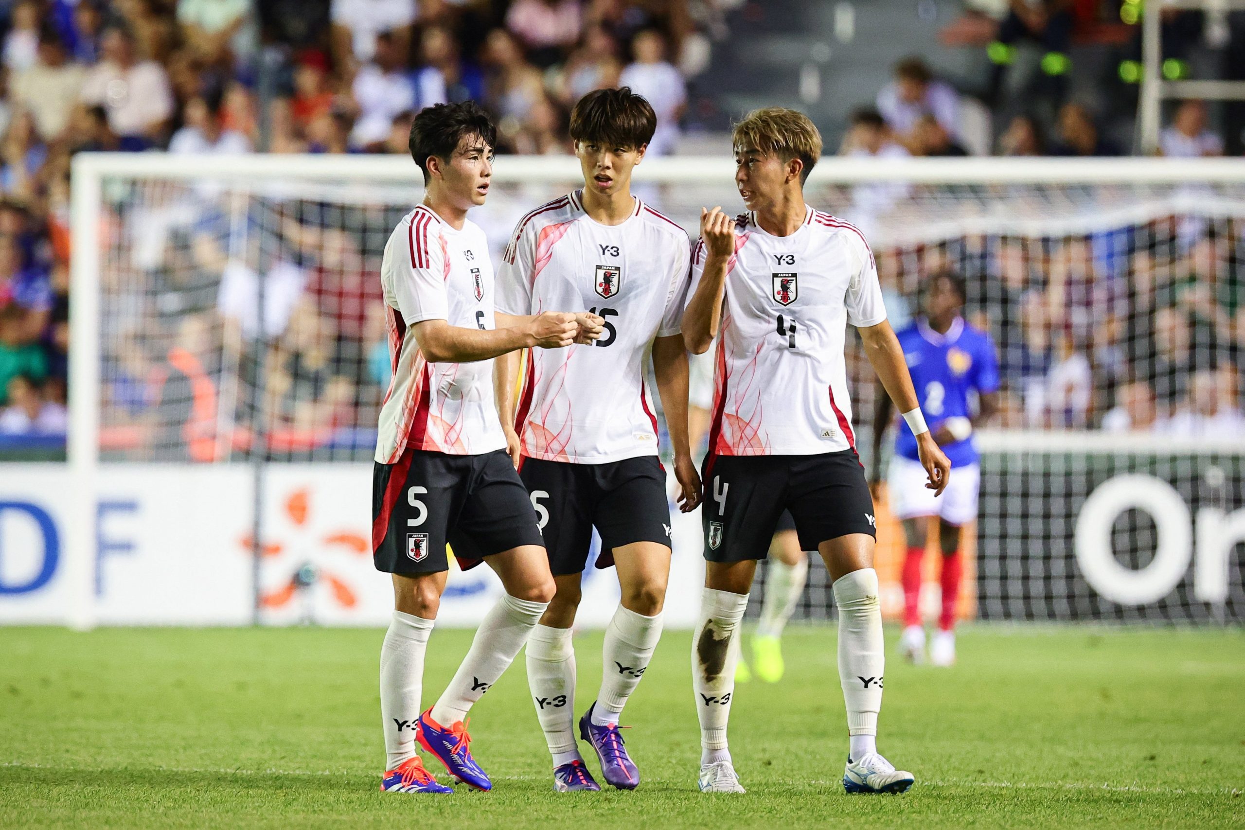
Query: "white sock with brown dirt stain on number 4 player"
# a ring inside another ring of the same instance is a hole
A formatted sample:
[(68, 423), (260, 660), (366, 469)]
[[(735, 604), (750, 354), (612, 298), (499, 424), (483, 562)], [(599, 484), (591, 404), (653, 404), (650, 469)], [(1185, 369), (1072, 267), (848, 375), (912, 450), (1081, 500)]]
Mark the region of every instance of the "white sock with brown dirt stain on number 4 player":
[[(726, 724), (731, 718), (735, 666), (740, 660), (740, 650), (732, 648), (732, 641), (740, 635), (740, 621), (747, 607), (747, 594), (711, 587), (701, 594), (705, 622), (692, 636), (692, 688), (701, 724), (701, 764), (721, 760), (727, 747)], [(730, 758), (730, 753), (726, 757)]]

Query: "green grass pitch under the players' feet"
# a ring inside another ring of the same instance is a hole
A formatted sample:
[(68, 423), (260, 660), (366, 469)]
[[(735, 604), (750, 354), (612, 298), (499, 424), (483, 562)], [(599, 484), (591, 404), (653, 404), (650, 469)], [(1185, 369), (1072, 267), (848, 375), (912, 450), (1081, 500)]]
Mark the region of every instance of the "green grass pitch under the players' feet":
[[(469, 636), (433, 635), (427, 702)], [(799, 627), (782, 683), (737, 688), (747, 795), (696, 791), (687, 632), (666, 635), (625, 714), (639, 790), (550, 791), (520, 656), (472, 716), (496, 789), (381, 795), (380, 642), (378, 631), (0, 628), (0, 828), (1245, 824), (1241, 632), (970, 627), (952, 669), (890, 658), (880, 748), (918, 780), (901, 796), (843, 793), (834, 632)], [(576, 647), (583, 709), (600, 636)]]

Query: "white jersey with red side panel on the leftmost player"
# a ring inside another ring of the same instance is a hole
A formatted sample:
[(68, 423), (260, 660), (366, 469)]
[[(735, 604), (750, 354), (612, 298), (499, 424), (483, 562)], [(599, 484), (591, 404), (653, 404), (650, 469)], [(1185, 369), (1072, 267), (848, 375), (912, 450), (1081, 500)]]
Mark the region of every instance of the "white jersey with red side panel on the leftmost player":
[(430, 363), (411, 326), (444, 320), (493, 329), (493, 264), (476, 224), (462, 230), (420, 205), (397, 223), (381, 259), (393, 377), (381, 406), (376, 460), (406, 449), (478, 455), (505, 448), (493, 396), (493, 361)]

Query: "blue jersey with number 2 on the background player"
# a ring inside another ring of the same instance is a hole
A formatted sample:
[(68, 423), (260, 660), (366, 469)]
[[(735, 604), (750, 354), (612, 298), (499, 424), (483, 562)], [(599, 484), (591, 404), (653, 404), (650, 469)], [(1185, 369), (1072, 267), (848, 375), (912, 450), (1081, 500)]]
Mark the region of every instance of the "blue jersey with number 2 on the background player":
[[(895, 333), (931, 432), (947, 418), (972, 417), (969, 409), (970, 391), (979, 394), (998, 391), (995, 343), (990, 335), (974, 329), (962, 317), (956, 317), (945, 335), (930, 329), (924, 317)], [(972, 436), (954, 444), (944, 444), (942, 452), (951, 459), (951, 467), (977, 463), (977, 445)], [(895, 453), (920, 459), (916, 438), (903, 418), (899, 419)]]

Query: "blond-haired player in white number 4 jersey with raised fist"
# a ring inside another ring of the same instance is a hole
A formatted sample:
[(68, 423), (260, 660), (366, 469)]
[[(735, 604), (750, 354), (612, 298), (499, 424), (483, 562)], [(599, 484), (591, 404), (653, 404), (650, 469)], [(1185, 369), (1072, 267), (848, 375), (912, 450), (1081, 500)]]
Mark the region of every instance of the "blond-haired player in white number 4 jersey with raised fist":
[(684, 315), (688, 348), (721, 333), (705, 458), (705, 592), (692, 638), (701, 723), (701, 790), (742, 793), (726, 727), (740, 620), (757, 560), (783, 510), (799, 546), (817, 550), (839, 611), (839, 681), (848, 716), (849, 793), (901, 793), (913, 784), (878, 754), (883, 637), (873, 570), (874, 511), (855, 452), (844, 367), (852, 324), (865, 355), (913, 424), (931, 489), (950, 463), (924, 424), (904, 353), (881, 301), (860, 231), (804, 203), (803, 182), (822, 152), (799, 112), (758, 110), (733, 132), (735, 182), (748, 213), (703, 212)]

